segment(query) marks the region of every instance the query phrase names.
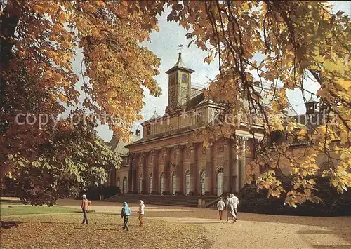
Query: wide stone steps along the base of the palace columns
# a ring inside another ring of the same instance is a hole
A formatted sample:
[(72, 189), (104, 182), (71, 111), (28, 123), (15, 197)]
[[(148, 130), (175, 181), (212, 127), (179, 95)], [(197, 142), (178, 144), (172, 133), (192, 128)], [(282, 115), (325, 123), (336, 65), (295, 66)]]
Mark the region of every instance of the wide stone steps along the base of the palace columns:
[(106, 198), (105, 201), (128, 203), (138, 203), (143, 200), (147, 204), (161, 206), (183, 206), (183, 207), (198, 207), (199, 198), (204, 200), (205, 204), (216, 201), (217, 196), (161, 196), (161, 195), (142, 195), (142, 194), (124, 194)]

